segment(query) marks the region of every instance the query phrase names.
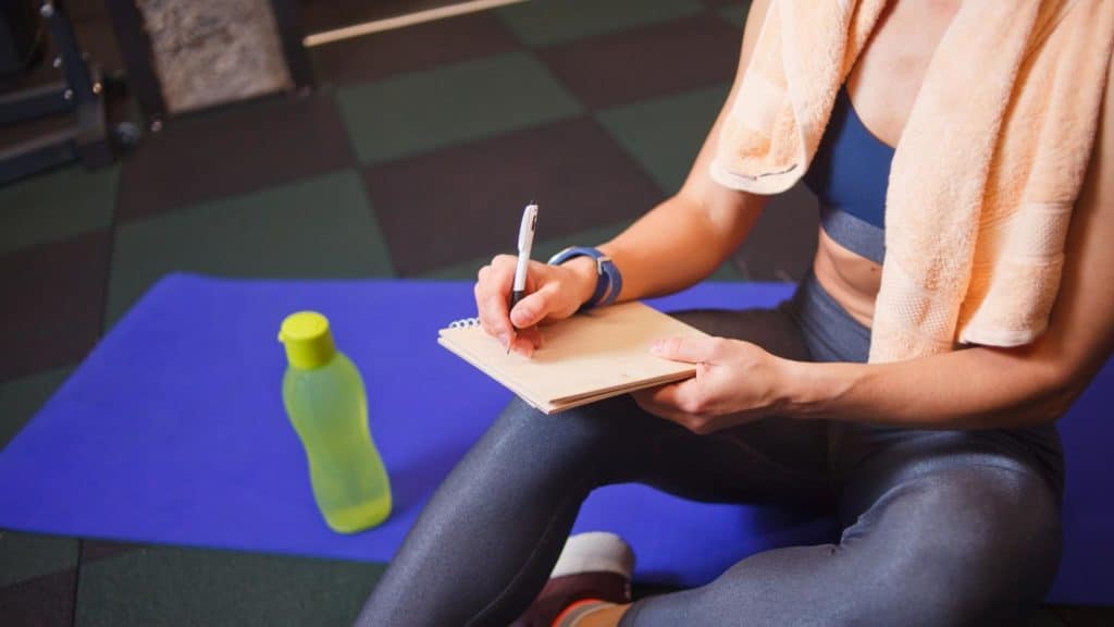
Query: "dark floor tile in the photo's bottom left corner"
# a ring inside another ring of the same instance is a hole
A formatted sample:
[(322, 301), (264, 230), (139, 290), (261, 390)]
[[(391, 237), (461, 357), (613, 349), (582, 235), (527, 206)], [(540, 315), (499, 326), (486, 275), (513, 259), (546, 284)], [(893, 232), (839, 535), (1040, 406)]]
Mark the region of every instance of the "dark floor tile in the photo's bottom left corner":
[(77, 570), (67, 569), (0, 588), (0, 625), (71, 627)]

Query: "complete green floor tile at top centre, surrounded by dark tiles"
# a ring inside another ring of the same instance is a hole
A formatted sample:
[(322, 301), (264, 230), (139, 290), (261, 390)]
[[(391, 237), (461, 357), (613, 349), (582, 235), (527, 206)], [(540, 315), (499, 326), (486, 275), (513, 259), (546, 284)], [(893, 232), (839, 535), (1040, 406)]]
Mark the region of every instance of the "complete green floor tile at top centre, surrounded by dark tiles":
[(534, 56), (514, 52), (338, 89), (362, 163), (570, 117), (580, 104)]

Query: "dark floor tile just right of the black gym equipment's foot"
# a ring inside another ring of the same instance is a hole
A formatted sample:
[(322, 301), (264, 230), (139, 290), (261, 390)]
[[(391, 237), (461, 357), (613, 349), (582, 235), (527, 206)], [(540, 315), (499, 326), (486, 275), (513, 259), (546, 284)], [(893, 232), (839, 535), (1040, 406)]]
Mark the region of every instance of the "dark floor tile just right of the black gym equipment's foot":
[(117, 216), (158, 214), (341, 170), (351, 161), (329, 91), (170, 119), (125, 160)]

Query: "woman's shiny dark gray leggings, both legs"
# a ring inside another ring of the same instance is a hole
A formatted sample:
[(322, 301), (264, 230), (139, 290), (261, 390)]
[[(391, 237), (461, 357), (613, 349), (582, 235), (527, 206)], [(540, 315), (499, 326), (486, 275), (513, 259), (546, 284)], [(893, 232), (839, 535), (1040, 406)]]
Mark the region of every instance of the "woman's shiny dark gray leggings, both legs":
[[(800, 360), (861, 361), (870, 340), (811, 278), (778, 309), (678, 316)], [(1062, 474), (1052, 425), (768, 418), (695, 435), (629, 397), (554, 416), (516, 401), (438, 489), (358, 625), (509, 624), (584, 499), (620, 482), (825, 512), (842, 527), (833, 543), (759, 553), (706, 586), (639, 600), (624, 626), (1012, 625), (1056, 573)]]

